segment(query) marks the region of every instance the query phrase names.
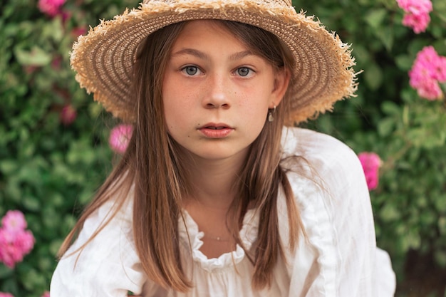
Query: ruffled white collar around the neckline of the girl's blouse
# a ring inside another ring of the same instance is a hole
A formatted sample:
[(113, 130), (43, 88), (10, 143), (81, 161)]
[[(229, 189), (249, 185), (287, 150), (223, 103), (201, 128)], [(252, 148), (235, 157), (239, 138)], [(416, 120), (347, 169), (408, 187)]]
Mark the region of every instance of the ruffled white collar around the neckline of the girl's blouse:
[[(180, 217), (178, 222), (178, 231), (180, 240), (183, 246), (190, 251), (192, 248), (192, 259), (202, 269), (215, 272), (232, 267), (239, 264), (245, 256), (242, 246), (237, 244), (234, 251), (222, 254), (218, 258), (208, 259), (199, 249), (203, 245), (202, 238), (204, 233), (199, 231), (197, 223), (190, 216), (190, 214), (183, 209), (182, 211), (185, 222)], [(259, 229), (259, 213), (255, 209), (249, 209), (244, 216), (243, 226), (240, 230), (240, 239), (247, 250), (251, 249), (252, 244), (257, 239), (257, 231)]]

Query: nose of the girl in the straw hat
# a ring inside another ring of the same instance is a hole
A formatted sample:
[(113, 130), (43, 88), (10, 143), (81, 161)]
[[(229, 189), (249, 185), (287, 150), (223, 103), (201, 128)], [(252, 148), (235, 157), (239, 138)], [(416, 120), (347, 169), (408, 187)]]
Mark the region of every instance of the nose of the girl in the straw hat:
[(209, 76), (203, 98), (204, 108), (227, 109), (230, 107), (228, 80), (229, 78), (225, 78), (224, 75), (214, 74)]

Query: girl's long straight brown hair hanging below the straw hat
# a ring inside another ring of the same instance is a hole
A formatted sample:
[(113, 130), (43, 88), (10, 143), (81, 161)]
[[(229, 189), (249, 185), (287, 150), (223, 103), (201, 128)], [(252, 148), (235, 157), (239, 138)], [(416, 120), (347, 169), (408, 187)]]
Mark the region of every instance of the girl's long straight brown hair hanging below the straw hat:
[[(218, 22), (251, 51), (269, 61), (276, 71), (293, 67), (291, 53), (274, 34), (247, 24)], [(163, 125), (162, 77), (172, 45), (184, 24), (162, 28), (141, 44), (134, 66), (133, 90), (137, 120), (128, 150), (59, 251), (59, 255), (67, 251), (76, 234), (81, 231), (85, 219), (109, 199), (116, 199), (114, 212), (118, 212), (127, 198), (127, 195), (120, 194), (121, 189), (124, 189), (122, 193), (128, 193), (130, 187), (134, 186), (134, 197), (130, 197), (133, 198), (133, 235), (142, 267), (152, 281), (182, 292), (193, 286), (193, 280), (185, 275), (180, 265), (178, 219), (182, 215), (182, 197), (190, 194), (192, 186), (187, 169), (182, 167), (185, 162), (182, 162), (180, 146)], [(247, 251), (254, 266), (252, 286), (255, 289), (271, 285), (274, 266), (279, 256), (284, 257), (277, 212), (279, 187), (284, 189), (286, 197), (291, 249), (296, 247), (299, 235), (304, 234), (291, 186), (280, 165), (281, 130), (288, 107), (287, 92), (274, 113), (274, 121), (264, 125), (250, 147), (247, 160), (239, 172), (236, 198), (227, 214), (229, 231), (240, 246), (243, 244), (239, 229), (248, 207), (254, 206), (261, 216), (256, 244), (252, 251)], [(110, 219), (102, 224), (93, 237)]]

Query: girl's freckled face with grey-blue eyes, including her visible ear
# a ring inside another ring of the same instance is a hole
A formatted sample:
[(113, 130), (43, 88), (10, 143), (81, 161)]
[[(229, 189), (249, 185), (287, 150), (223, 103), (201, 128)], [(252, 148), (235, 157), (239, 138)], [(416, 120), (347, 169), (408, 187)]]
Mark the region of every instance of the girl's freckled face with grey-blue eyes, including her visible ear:
[(165, 69), (167, 130), (192, 156), (244, 160), (288, 82), (218, 22), (191, 21)]

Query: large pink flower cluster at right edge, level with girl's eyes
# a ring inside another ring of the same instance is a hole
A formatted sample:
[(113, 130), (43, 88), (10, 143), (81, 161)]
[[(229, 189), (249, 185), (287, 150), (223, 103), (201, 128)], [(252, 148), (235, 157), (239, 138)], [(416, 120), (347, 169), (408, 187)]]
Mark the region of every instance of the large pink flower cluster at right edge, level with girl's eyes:
[(409, 78), (410, 86), (420, 97), (428, 100), (442, 98), (438, 83), (446, 83), (446, 57), (439, 56), (432, 46), (425, 46), (417, 54)]

